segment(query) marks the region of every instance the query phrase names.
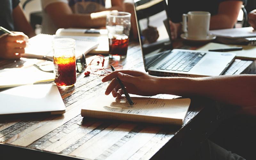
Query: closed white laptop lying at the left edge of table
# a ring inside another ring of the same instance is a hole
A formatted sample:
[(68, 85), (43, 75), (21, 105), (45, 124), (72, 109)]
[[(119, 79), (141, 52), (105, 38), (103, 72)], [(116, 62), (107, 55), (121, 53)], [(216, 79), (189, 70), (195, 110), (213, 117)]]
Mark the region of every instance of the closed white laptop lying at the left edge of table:
[(65, 113), (58, 87), (53, 84), (23, 85), (0, 92), (0, 115), (18, 113)]

